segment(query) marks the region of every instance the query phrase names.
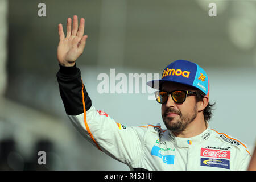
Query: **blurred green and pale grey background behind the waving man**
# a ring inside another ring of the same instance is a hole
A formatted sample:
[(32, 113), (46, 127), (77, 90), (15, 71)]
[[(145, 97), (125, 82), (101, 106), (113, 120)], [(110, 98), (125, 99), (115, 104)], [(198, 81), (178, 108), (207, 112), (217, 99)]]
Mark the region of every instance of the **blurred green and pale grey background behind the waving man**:
[[(39, 3), (46, 16), (38, 15)], [(216, 3), (216, 17), (209, 3)], [(97, 76), (110, 76), (111, 68), (160, 76), (172, 61), (191, 60), (208, 73), (216, 102), (212, 129), (253, 152), (256, 1), (0, 0), (0, 169), (129, 170), (82, 138), (65, 114), (56, 80), (57, 25), (65, 32), (73, 15), (85, 18), (89, 37), (77, 67), (97, 110), (127, 126), (165, 128), (148, 93), (100, 94)], [(40, 150), (46, 165), (38, 164)]]

